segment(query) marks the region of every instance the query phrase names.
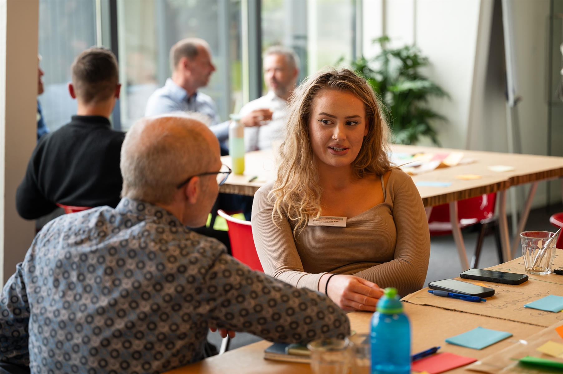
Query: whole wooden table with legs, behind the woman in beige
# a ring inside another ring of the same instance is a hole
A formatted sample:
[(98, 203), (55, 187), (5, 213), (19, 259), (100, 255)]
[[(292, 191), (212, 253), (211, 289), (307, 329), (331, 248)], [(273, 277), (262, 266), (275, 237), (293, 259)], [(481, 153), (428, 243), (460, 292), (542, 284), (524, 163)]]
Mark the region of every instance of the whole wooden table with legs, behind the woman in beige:
[[(454, 150), (450, 148), (419, 147), (393, 145), (392, 151), (415, 153), (435, 153), (435, 152), (463, 152), (464, 157), (474, 160), (471, 164), (454, 166), (452, 168), (441, 168), (432, 172), (414, 175), (413, 181), (435, 181), (451, 182), (449, 187), (417, 187), (425, 205), (427, 216), (430, 217), (431, 207), (441, 204), (449, 204), (450, 222), (452, 222), (452, 233), (458, 250), (462, 269), (469, 268), (465, 245), (461, 229), (458, 227), (457, 201), (470, 199), (471, 197), (481, 196), (484, 193), (497, 192), (499, 227), (501, 230), (501, 242), (504, 260), (513, 258), (520, 238), (515, 236), (512, 248), (508, 235), (508, 224), (506, 217), (506, 191), (511, 186), (518, 186), (524, 183), (532, 183), (528, 198), (519, 221), (519, 231), (524, 230), (531, 202), (534, 198), (538, 182), (547, 181), (563, 177), (563, 157), (506, 154), (499, 152), (483, 152)], [(230, 157), (221, 157), (222, 162), (231, 165)], [(487, 169), (487, 166), (505, 165), (513, 166), (515, 170), (510, 172), (497, 173)], [(479, 174), (481, 179), (464, 181), (455, 178), (460, 174)], [(253, 182), (251, 178), (257, 177)], [(245, 172), (243, 175), (229, 175), (226, 183), (221, 186), (220, 192), (236, 193), (238, 195), (254, 196), (258, 188), (265, 183), (274, 181), (276, 178), (276, 157), (274, 151), (254, 151), (248, 152), (245, 156)]]

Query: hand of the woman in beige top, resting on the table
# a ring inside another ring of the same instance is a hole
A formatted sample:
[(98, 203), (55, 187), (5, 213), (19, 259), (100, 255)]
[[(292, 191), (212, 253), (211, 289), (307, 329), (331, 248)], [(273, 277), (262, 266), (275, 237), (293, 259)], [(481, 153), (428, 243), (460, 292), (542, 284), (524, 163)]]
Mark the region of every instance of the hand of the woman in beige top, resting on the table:
[[(319, 291), (323, 292), (332, 274), (324, 274), (319, 280)], [(337, 274), (328, 282), (328, 297), (346, 312), (353, 310), (376, 311), (377, 301), (383, 290), (376, 283), (363, 278)]]

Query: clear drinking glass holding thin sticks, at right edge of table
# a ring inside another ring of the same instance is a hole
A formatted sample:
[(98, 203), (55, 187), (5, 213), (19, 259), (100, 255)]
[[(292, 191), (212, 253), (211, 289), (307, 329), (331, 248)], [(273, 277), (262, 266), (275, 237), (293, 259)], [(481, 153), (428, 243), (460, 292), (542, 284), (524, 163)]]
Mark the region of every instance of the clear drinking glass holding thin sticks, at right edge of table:
[(526, 273), (539, 275), (551, 273), (551, 265), (555, 258), (556, 240), (551, 240), (549, 245), (545, 246), (549, 238), (554, 236), (555, 233), (549, 231), (524, 231), (520, 233)]

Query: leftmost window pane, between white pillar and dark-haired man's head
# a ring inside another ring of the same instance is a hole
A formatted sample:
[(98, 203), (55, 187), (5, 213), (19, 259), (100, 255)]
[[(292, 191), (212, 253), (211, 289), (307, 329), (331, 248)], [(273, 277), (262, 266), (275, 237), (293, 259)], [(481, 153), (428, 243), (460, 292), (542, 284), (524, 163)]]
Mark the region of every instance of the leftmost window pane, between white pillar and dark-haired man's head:
[(76, 101), (70, 97), (70, 65), (74, 58), (96, 44), (95, 0), (39, 1), (39, 54), (44, 93), (39, 96), (43, 118), (53, 131), (76, 114)]

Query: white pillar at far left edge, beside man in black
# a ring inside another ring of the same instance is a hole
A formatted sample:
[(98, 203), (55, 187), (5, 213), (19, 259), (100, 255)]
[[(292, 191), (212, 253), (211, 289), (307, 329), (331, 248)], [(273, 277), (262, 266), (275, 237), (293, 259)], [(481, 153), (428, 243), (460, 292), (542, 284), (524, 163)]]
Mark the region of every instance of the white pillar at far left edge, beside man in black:
[(23, 261), (35, 222), (19, 217), (16, 188), (37, 139), (39, 1), (0, 4), (0, 282)]

